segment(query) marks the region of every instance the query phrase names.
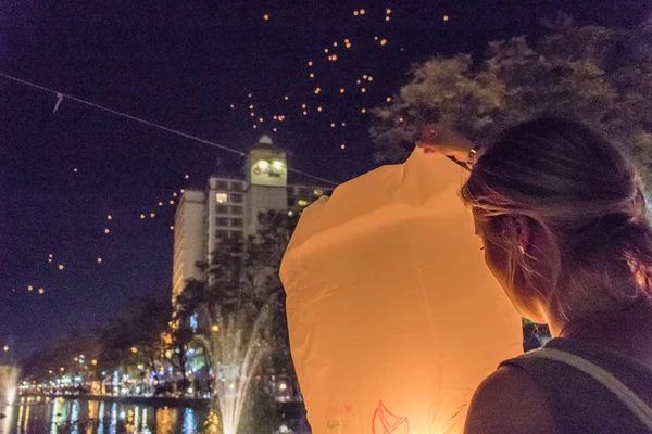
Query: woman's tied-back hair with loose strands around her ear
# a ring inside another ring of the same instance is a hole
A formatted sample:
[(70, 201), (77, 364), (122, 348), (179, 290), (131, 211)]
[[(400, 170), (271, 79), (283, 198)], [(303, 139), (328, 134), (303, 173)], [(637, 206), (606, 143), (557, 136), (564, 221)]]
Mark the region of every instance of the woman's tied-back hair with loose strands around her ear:
[[(650, 294), (652, 229), (640, 178), (616, 145), (587, 126), (540, 118), (507, 129), (481, 152), (461, 194), (485, 220), (485, 235), (507, 252), (512, 283), (516, 275), (530, 286), (543, 280), (549, 307), (564, 317), (572, 301)], [(521, 254), (506, 239), (507, 215), (539, 225), (552, 257), (542, 258), (536, 245)], [(547, 261), (547, 276), (532, 260)], [(614, 288), (623, 270), (638, 285)]]

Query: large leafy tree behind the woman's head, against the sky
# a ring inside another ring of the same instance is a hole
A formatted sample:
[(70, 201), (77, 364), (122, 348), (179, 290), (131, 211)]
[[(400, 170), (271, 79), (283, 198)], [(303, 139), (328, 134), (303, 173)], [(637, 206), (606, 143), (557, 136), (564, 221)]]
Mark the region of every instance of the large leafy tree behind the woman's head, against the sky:
[(486, 56), (436, 58), (415, 65), (371, 129), (380, 163), (402, 162), (428, 123), (450, 125), (476, 142), (541, 115), (568, 116), (623, 143), (650, 184), (652, 20), (625, 30), (546, 24), (525, 37), (489, 43)]

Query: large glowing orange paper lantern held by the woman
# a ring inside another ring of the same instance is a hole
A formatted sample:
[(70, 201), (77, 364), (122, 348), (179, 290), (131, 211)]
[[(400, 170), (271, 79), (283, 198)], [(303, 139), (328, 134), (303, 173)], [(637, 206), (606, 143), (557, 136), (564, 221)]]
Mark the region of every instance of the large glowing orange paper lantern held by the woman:
[(314, 433), (461, 433), (475, 388), (522, 353), (461, 170), (416, 150), (303, 212), (280, 277)]

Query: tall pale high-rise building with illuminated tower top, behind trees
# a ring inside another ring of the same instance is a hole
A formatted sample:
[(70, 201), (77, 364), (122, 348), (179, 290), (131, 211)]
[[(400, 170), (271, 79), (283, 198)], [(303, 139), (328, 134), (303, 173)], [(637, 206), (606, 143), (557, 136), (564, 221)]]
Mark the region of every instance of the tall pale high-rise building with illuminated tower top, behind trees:
[(286, 153), (263, 136), (247, 153), (241, 176), (214, 174), (204, 191), (186, 189), (175, 214), (173, 304), (188, 279), (206, 279), (197, 264), (211, 264), (223, 240), (254, 234), (261, 213), (301, 213), (333, 188), (293, 173), (288, 177)]

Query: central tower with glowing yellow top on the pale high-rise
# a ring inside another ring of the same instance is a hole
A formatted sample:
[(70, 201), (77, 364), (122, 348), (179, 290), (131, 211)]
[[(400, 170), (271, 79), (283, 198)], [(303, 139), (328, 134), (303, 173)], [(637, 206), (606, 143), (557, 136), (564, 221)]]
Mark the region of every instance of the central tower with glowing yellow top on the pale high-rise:
[(269, 136), (261, 137), (248, 152), (244, 177), (244, 227), (248, 234), (253, 234), (258, 229), (261, 213), (271, 209), (286, 210), (288, 206), (286, 153), (274, 146)]

